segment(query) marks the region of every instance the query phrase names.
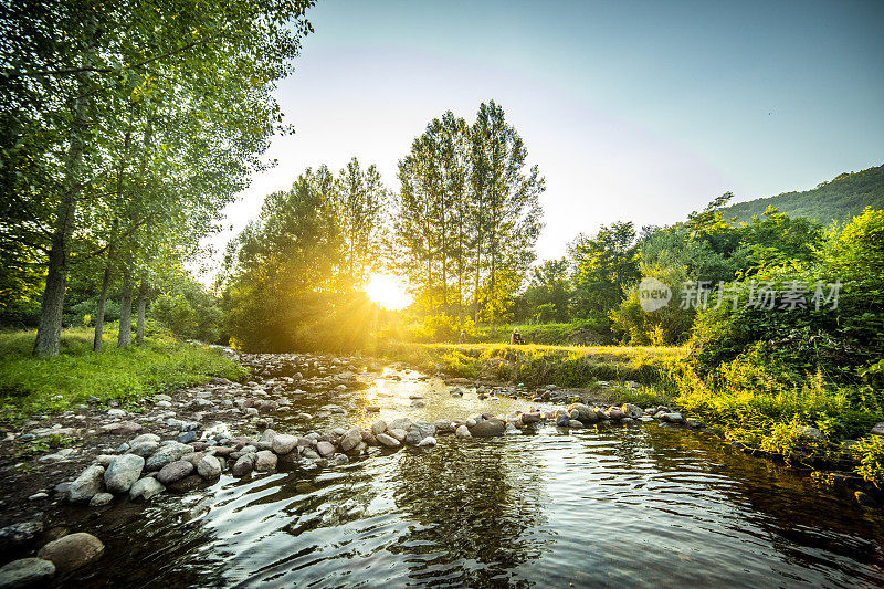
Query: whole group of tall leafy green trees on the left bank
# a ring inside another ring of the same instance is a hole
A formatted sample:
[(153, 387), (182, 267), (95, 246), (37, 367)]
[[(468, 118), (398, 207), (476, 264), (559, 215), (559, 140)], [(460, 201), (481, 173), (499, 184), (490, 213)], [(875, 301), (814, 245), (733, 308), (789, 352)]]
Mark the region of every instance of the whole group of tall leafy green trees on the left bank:
[(59, 354), (72, 280), (96, 294), (95, 350), (112, 288), (118, 345), (130, 345), (134, 298), (143, 337), (147, 299), (266, 166), (270, 137), (291, 130), (272, 91), (311, 4), (3, 4), (0, 315), (36, 315), (35, 355)]

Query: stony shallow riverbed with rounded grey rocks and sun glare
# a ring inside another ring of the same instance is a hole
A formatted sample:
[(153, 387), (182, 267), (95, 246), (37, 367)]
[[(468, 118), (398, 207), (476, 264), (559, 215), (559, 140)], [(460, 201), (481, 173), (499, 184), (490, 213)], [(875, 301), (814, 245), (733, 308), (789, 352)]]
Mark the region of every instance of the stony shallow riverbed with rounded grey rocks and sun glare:
[[(611, 403), (614, 395), (635, 391), (638, 383), (629, 381), (591, 390), (519, 387), (462, 377), (442, 381), (401, 364), (356, 357), (231, 354), (230, 359), (248, 367), (251, 377), (155, 395), (138, 411), (86, 404), (8, 432), (0, 442), (6, 482), (0, 527), (15, 524), (19, 534), (0, 530), (6, 558), (28, 556), (76, 532), (94, 534), (114, 553), (127, 545), (115, 532), (116, 520), (138, 519), (146, 505), (151, 513), (160, 508), (164, 519), (189, 522), (238, 481), (260, 486), (273, 473), (354, 469), (350, 463), (402, 451), (413, 456), (402, 460), (422, 469), (435, 462), (436, 443), (449, 450), (452, 442), (466, 449), (478, 444), (492, 452), (498, 443), (472, 439), (528, 440), (518, 437), (538, 429), (558, 432), (562, 442), (612, 431), (630, 438), (630, 430), (644, 428), (696, 430), (681, 434), (687, 440), (709, 431), (673, 406)], [(43, 448), (46, 440), (65, 438), (74, 440), (67, 448)], [(18, 453), (29, 448), (35, 452)], [(56, 581), (77, 582), (86, 578), (77, 575), (88, 574), (70, 575)]]

